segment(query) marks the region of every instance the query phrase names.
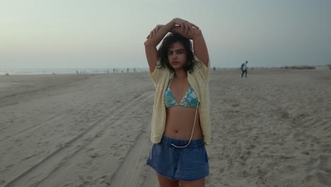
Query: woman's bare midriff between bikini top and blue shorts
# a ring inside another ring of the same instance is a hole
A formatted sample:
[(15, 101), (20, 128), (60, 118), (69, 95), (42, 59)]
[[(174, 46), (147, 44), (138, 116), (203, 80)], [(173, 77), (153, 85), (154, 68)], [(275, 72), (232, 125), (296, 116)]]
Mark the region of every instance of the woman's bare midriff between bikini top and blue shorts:
[[(185, 106), (173, 106), (166, 108), (167, 119), (165, 121), (165, 131), (163, 135), (178, 140), (190, 140), (196, 109), (197, 108), (187, 108)], [(203, 135), (198, 111), (192, 140), (202, 137)]]

